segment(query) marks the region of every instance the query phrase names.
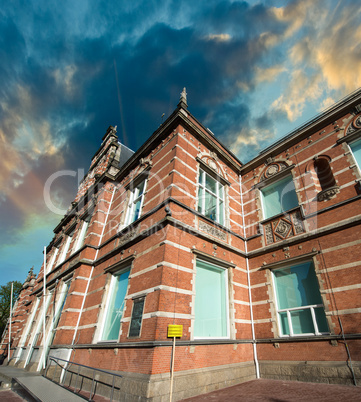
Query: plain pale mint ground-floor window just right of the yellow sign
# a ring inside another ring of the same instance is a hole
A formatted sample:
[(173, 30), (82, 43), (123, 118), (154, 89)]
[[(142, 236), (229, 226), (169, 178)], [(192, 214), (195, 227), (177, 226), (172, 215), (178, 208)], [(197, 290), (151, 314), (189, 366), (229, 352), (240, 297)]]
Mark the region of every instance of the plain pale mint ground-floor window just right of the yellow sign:
[(197, 260), (195, 338), (229, 336), (227, 270)]

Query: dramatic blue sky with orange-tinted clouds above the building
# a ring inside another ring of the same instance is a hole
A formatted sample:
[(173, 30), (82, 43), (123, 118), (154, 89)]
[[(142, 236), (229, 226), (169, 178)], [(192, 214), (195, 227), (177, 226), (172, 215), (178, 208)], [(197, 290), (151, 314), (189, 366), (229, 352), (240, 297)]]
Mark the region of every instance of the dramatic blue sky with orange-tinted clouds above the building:
[(361, 87), (361, 4), (8, 0), (0, 60), (3, 285), (39, 272), (109, 125), (136, 151), (186, 87), (247, 162)]

